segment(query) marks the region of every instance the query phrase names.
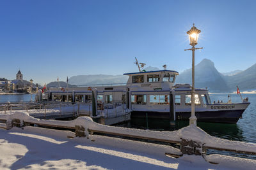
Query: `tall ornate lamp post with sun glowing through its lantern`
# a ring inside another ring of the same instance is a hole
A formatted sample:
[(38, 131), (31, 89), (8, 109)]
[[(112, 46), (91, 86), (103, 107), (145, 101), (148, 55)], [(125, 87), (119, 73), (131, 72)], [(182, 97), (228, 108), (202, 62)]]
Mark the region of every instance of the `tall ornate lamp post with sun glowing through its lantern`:
[[(195, 50), (202, 48), (195, 48), (197, 45), (198, 36), (201, 31), (195, 27), (193, 27), (187, 32), (189, 35), (189, 45), (192, 46), (190, 49), (192, 51), (192, 89), (191, 89), (191, 117), (189, 118), (189, 125), (196, 125), (196, 116), (195, 116)], [(186, 51), (185, 50), (185, 51)]]

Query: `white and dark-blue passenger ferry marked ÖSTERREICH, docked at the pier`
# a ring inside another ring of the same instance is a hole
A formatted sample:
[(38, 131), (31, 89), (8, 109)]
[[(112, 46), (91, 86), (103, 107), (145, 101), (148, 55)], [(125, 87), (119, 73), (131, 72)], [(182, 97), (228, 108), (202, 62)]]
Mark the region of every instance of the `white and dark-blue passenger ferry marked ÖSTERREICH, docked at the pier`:
[[(174, 85), (179, 75), (177, 71), (143, 70), (124, 75), (129, 76), (126, 85), (51, 88), (43, 94), (42, 100), (90, 104), (95, 99), (98, 111), (115, 104), (128, 110), (131, 118), (174, 121), (188, 120), (191, 116), (191, 86)], [(207, 89), (195, 89), (195, 115), (198, 122), (236, 123), (249, 104), (248, 97), (241, 103), (212, 103)]]

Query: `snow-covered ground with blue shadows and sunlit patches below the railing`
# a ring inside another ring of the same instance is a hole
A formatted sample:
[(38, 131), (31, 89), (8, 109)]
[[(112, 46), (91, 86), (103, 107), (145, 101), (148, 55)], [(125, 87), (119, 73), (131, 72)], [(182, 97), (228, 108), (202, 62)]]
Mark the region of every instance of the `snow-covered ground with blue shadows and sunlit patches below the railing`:
[[(212, 155), (173, 159), (162, 146), (103, 136), (75, 137), (73, 132), (13, 127), (0, 129), (0, 169), (255, 169), (255, 160)], [(93, 141), (92, 141), (93, 139)]]

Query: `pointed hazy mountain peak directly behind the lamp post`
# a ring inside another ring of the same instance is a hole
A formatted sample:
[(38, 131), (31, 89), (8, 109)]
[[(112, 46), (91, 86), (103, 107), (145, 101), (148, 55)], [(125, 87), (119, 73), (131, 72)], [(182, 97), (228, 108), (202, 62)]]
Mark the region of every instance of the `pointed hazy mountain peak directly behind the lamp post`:
[[(192, 69), (180, 73), (176, 83), (191, 84)], [(195, 66), (195, 87), (207, 87), (212, 92), (228, 92), (230, 89), (225, 81), (225, 76), (217, 71), (211, 60), (204, 59)]]

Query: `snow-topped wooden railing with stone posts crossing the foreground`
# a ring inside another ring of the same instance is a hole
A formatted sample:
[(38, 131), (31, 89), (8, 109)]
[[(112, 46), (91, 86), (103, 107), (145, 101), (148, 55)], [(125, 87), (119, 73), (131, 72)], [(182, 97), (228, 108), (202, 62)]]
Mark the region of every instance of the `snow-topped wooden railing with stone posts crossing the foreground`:
[(164, 143), (176, 143), (180, 145), (180, 150), (167, 153), (173, 157), (180, 157), (183, 154), (202, 155), (204, 157), (207, 149), (256, 155), (256, 144), (254, 143), (216, 138), (210, 136), (195, 125), (189, 125), (188, 127), (179, 129), (179, 131), (146, 131), (102, 125), (93, 122), (90, 117), (79, 117), (76, 120), (65, 122), (58, 120), (39, 120), (30, 117), (28, 113), (22, 111), (16, 111), (12, 115), (0, 115), (0, 120), (6, 120), (6, 129), (11, 129), (13, 126), (40, 125), (45, 128), (58, 127), (67, 130), (73, 129), (73, 131), (76, 131), (76, 136), (86, 137), (88, 139), (93, 138), (93, 134), (97, 133), (97, 135), (110, 134), (117, 138), (129, 137), (131, 139), (136, 138)]

